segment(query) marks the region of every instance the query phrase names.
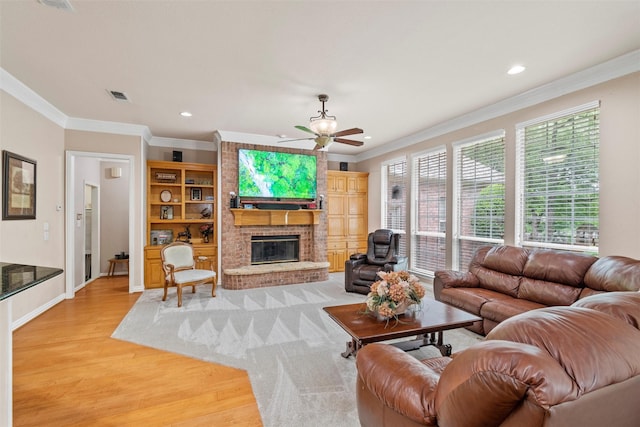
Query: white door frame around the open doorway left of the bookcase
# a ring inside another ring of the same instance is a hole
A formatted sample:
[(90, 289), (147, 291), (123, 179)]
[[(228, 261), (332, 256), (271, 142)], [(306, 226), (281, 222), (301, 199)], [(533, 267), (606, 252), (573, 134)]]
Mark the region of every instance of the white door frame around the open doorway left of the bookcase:
[[(67, 274), (65, 274), (65, 297), (67, 299), (72, 299), (75, 297), (75, 286), (73, 284), (73, 274), (75, 271), (74, 268), (74, 260), (75, 260), (75, 250), (74, 250), (74, 234), (76, 233), (75, 227), (75, 206), (77, 203), (83, 203), (83, 201), (76, 201), (74, 195), (74, 178), (75, 178), (75, 160), (79, 157), (88, 157), (94, 158), (103, 161), (125, 161), (129, 166), (129, 253), (135, 250), (135, 240), (134, 240), (134, 213), (135, 213), (135, 205), (134, 205), (134, 189), (135, 189), (135, 171), (134, 171), (134, 156), (126, 155), (126, 154), (111, 154), (111, 153), (94, 153), (94, 152), (85, 152), (85, 151), (70, 151), (67, 150), (65, 153), (66, 157), (66, 166), (65, 166), (65, 269)], [(84, 206), (83, 206), (84, 210)], [(84, 228), (82, 229), (84, 231)], [(129, 292), (132, 293), (135, 291), (134, 287), (134, 274), (132, 272), (135, 270), (135, 262), (136, 257), (129, 257)]]

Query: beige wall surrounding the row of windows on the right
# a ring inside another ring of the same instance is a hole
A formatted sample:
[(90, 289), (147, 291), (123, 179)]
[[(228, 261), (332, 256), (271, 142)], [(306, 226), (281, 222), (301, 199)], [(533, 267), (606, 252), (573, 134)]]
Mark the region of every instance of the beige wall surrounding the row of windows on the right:
[[(358, 171), (369, 172), (369, 188), (381, 188), (385, 159), (407, 156), (444, 145), (447, 147), (448, 182), (452, 182), (452, 144), (498, 129), (506, 132), (505, 242), (515, 242), (515, 126), (517, 123), (600, 100), (600, 255), (640, 259), (640, 73), (621, 77), (561, 96), (533, 107), (441, 135), (407, 149), (359, 162)], [(451, 247), (452, 191), (448, 193), (448, 247)], [(369, 228), (380, 227), (380, 193), (369, 193)], [(448, 265), (451, 254), (448, 255)]]

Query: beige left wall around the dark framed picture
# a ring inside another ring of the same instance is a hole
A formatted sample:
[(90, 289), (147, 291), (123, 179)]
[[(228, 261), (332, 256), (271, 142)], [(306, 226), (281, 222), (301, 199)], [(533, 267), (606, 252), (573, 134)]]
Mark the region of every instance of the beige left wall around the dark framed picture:
[[(37, 162), (36, 219), (0, 222), (0, 260), (64, 269), (64, 211), (56, 210), (64, 205), (64, 131), (4, 91), (0, 112), (0, 148)], [(64, 298), (64, 283), (63, 274), (14, 296), (12, 321)]]

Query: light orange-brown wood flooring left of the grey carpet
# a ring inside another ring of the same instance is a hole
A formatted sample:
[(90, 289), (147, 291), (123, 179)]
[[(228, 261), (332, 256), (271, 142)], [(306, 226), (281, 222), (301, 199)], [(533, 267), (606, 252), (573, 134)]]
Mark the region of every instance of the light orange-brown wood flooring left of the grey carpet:
[(261, 426), (245, 371), (111, 338), (127, 286), (98, 279), (14, 331), (14, 426)]

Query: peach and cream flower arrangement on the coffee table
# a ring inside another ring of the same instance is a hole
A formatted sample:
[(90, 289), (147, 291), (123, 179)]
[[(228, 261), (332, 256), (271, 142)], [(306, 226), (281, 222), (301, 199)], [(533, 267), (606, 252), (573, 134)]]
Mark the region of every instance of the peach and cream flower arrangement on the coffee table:
[(378, 276), (380, 280), (371, 285), (367, 295), (367, 313), (398, 320), (406, 307), (422, 301), (425, 289), (408, 271), (380, 271)]

